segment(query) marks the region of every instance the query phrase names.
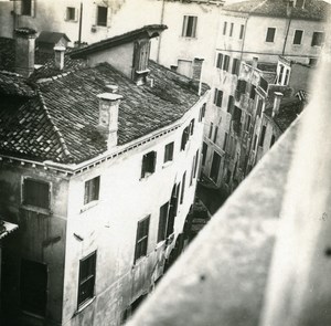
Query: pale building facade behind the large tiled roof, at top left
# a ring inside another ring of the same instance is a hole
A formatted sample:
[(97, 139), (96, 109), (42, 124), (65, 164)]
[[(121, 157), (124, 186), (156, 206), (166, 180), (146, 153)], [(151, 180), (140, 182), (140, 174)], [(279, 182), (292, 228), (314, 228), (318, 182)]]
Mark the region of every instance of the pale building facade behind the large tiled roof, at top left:
[[(222, 0), (20, 0), (0, 2), (0, 35), (29, 27), (65, 33), (74, 46), (94, 43), (145, 24), (167, 24), (169, 30), (151, 44), (151, 57), (189, 77), (204, 61), (203, 80), (211, 82)], [(146, 14), (148, 13), (148, 14)]]

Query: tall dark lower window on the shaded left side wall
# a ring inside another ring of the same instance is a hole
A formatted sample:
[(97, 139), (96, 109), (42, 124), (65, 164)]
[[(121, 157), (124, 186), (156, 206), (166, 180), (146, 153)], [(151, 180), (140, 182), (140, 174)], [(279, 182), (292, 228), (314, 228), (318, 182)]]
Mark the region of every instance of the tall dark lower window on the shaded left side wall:
[(45, 316), (47, 302), (47, 265), (33, 261), (21, 261), (21, 308)]

